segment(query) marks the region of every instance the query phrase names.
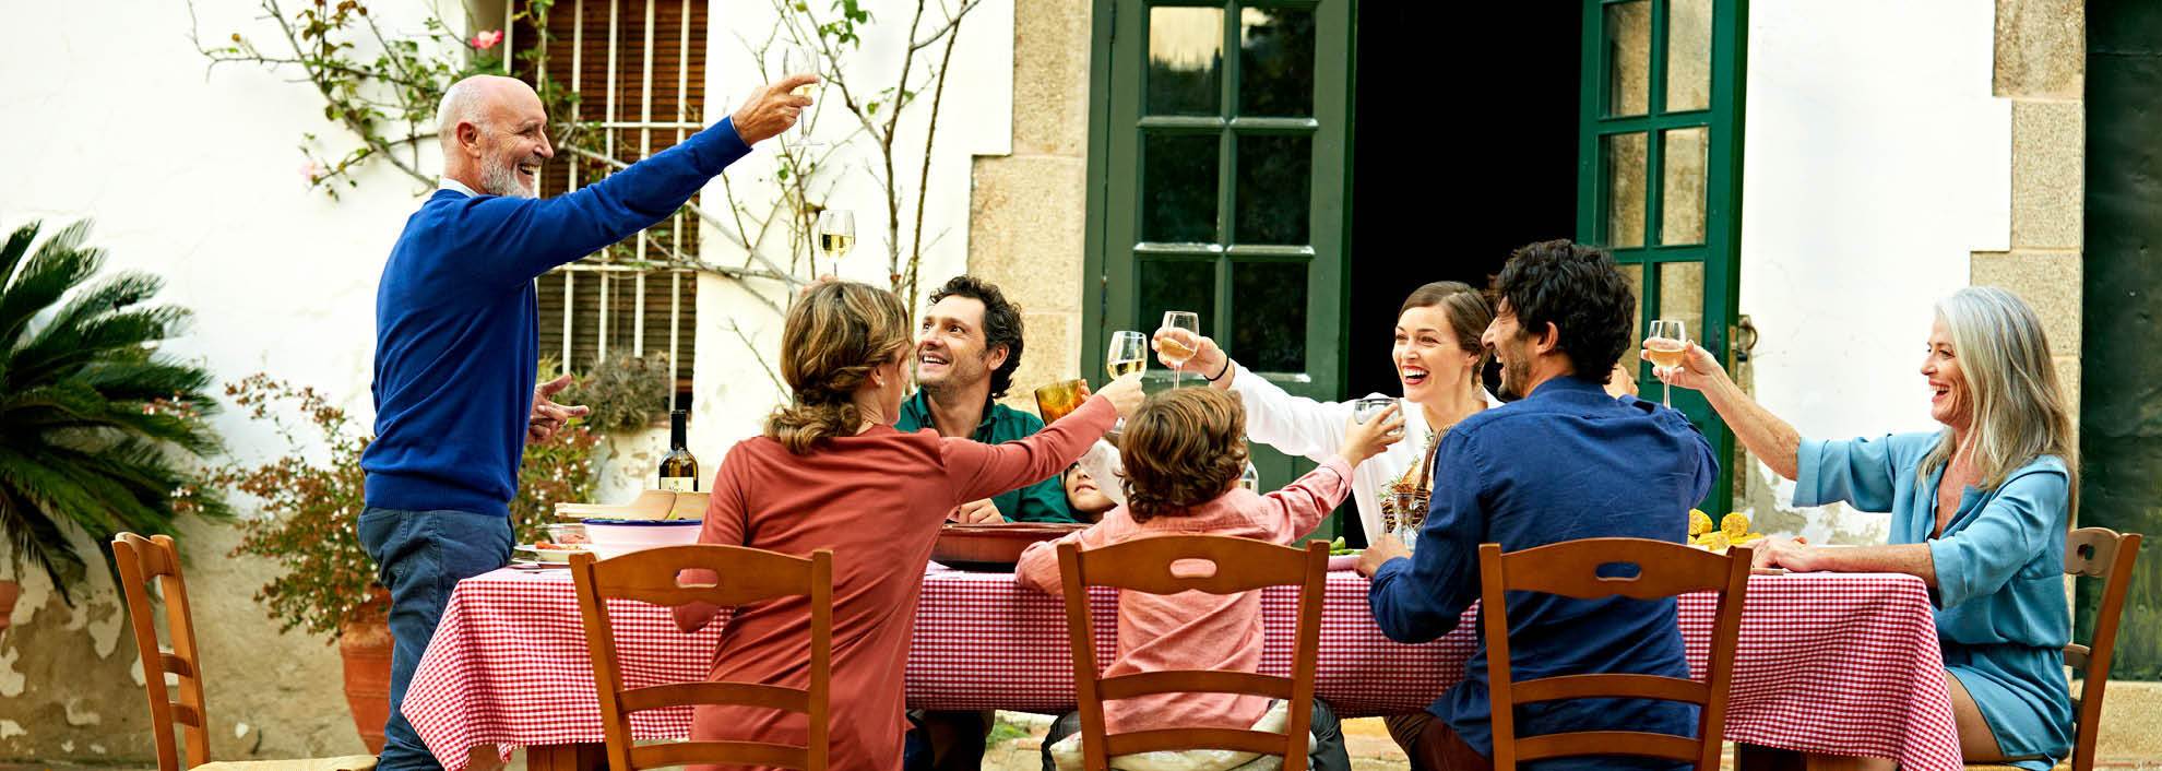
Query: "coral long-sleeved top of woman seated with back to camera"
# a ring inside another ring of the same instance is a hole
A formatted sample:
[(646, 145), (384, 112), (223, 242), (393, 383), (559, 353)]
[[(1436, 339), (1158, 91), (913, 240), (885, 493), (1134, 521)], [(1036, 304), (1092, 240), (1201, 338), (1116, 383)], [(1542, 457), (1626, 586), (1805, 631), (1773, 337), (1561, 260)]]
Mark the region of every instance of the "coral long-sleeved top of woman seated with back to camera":
[[(902, 767), (902, 674), (923, 568), (947, 512), (1057, 475), (1113, 419), (1111, 402), (1090, 397), (1040, 434), (999, 445), (873, 425), (806, 456), (765, 436), (729, 449), (698, 542), (796, 557), (832, 549), (832, 769)], [(806, 603), (793, 596), (735, 609), (709, 680), (809, 687)], [(683, 628), (711, 618), (709, 605), (677, 609)], [(802, 745), (806, 736), (804, 715), (750, 706), (698, 706), (690, 728), (692, 741)]]

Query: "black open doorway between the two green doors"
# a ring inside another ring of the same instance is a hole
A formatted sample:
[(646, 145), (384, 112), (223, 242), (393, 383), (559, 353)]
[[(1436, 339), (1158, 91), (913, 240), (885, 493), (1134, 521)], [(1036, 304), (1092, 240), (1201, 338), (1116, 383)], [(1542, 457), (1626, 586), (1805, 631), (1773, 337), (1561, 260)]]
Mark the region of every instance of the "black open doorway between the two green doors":
[(1509, 2), (1474, 28), (1423, 2), (1358, 6), (1345, 397), (1403, 393), (1403, 298), (1487, 287), (1509, 251), (1576, 231), (1580, 2)]

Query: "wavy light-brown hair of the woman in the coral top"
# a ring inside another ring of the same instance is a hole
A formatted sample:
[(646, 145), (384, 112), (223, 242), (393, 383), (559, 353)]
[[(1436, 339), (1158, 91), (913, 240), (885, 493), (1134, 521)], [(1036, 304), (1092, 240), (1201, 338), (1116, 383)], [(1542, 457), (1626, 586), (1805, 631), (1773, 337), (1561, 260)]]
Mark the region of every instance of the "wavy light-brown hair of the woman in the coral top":
[(856, 389), (908, 350), (908, 309), (893, 292), (856, 281), (811, 289), (780, 328), (780, 378), (793, 400), (765, 419), (765, 436), (806, 456), (863, 423)]

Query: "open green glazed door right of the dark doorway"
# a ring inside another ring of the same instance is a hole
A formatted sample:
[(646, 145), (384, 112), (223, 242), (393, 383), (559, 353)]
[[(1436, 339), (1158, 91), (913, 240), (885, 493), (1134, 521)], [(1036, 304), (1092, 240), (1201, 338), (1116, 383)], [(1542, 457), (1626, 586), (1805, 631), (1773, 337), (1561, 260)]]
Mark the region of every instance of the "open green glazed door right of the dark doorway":
[[(1634, 341), (1652, 320), (1680, 320), (1732, 367), (1747, 2), (1583, 2), (1576, 238), (1613, 251), (1637, 285)], [(1650, 365), (1637, 380), (1643, 397), (1660, 397)], [(1725, 514), (1734, 436), (1704, 395), (1676, 389), (1673, 406), (1723, 458), (1727, 473), (1699, 508)]]

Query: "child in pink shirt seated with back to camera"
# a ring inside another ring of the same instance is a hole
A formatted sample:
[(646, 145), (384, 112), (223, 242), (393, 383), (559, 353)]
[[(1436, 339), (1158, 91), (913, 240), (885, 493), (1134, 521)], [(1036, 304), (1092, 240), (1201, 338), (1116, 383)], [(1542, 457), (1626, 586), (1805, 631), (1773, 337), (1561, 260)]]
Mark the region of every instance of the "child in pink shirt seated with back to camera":
[[(1239, 536), (1291, 544), (1321, 525), (1351, 492), (1351, 469), (1399, 436), (1397, 408), (1345, 428), (1336, 458), (1291, 486), (1256, 495), (1239, 488), (1245, 469), (1245, 412), (1239, 397), (1215, 389), (1163, 391), (1126, 419), (1120, 449), (1126, 505), (1100, 523), (1029, 546), (1014, 572), (1020, 585), (1059, 594), (1057, 544), (1109, 546), (1155, 536)], [(1163, 669), (1260, 672), (1260, 592), (1172, 596), (1126, 592), (1118, 603), (1118, 654), (1103, 676)], [(1109, 732), (1155, 728), (1252, 728), (1269, 711), (1263, 695), (1161, 693), (1105, 704)], [(1349, 769), (1336, 717), (1314, 700), (1314, 769)], [(1062, 717), (1044, 736), (1044, 769), (1055, 769), (1051, 745), (1079, 730), (1079, 713)]]

